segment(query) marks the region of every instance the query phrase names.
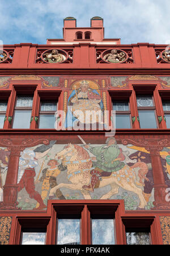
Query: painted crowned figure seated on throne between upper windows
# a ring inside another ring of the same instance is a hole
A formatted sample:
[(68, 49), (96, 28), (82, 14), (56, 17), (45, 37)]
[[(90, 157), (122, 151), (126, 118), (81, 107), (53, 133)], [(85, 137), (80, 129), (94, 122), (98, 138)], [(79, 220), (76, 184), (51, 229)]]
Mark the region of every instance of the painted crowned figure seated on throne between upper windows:
[[(104, 109), (100, 94), (95, 89), (91, 89), (88, 81), (80, 82), (78, 89), (74, 88), (68, 99), (66, 115), (66, 127), (74, 127), (74, 122), (96, 123), (101, 121)], [(80, 114), (82, 112), (82, 114)], [(96, 118), (88, 116), (88, 113), (99, 113)]]

